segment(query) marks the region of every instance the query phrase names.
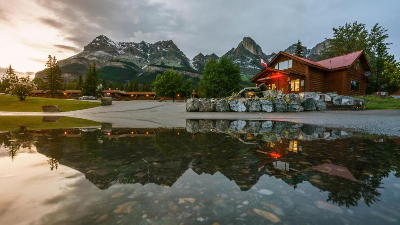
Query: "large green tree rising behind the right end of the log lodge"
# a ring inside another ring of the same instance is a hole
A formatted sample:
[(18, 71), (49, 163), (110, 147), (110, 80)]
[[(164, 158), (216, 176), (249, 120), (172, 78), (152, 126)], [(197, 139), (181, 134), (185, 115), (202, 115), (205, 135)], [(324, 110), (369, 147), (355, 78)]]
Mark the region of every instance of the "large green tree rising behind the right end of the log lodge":
[(384, 71), (385, 62), (393, 64), (394, 56), (388, 53), (389, 45), (386, 42), (389, 35), (388, 30), (376, 23), (371, 30), (366, 29), (365, 24), (357, 21), (339, 28), (333, 28), (333, 38), (327, 38), (329, 47), (321, 51), (320, 59), (331, 58), (334, 56), (348, 54), (358, 50), (364, 50), (370, 66), (372, 75), (368, 77), (370, 82), (367, 84), (366, 92), (389, 91), (390, 78)]

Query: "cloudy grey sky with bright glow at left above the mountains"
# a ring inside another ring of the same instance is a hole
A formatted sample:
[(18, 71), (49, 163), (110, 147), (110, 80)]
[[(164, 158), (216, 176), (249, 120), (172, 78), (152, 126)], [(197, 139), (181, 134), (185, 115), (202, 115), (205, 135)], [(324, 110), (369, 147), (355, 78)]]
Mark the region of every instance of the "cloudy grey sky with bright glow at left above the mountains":
[(400, 58), (398, 0), (12, 0), (0, 1), (0, 76), (45, 68), (47, 56), (68, 58), (99, 35), (116, 42), (173, 40), (188, 56), (225, 54), (245, 36), (264, 53), (300, 39), (314, 47), (332, 28), (358, 21), (388, 29)]

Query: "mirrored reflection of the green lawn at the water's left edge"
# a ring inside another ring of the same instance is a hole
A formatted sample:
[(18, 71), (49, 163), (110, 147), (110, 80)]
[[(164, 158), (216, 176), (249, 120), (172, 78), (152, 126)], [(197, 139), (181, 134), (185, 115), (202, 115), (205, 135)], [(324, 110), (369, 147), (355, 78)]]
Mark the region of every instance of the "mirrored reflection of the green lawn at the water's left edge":
[(42, 122), (42, 116), (0, 116), (0, 131), (14, 131), (20, 127), (27, 130), (62, 129), (73, 127), (101, 126), (101, 123), (73, 118), (61, 117), (59, 122)]

